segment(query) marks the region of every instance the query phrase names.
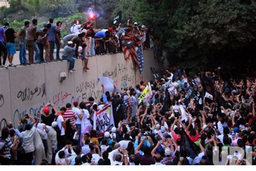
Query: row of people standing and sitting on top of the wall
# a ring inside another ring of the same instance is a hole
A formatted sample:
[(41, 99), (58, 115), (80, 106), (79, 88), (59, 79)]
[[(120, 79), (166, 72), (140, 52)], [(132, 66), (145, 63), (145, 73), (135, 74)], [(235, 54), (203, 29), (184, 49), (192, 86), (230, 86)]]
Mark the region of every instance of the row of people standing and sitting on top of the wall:
[[(12, 29), (9, 23), (0, 27), (0, 57), (3, 54), (3, 62), (0, 60), (0, 68), (16, 67), (12, 60), (16, 53), (15, 39), (19, 44), (19, 61), (21, 65), (31, 65), (38, 63), (48, 63), (52, 61), (68, 60), (70, 62), (69, 71), (73, 73), (75, 59), (84, 60), (83, 70), (86, 72), (89, 57), (103, 55), (106, 53), (118, 53), (123, 51), (122, 43), (126, 41), (143, 42), (149, 40), (145, 25), (134, 25), (127, 23), (127, 27), (121, 28), (119, 25), (111, 26), (107, 29), (96, 30), (93, 27), (93, 19), (79, 24), (75, 20), (70, 28), (70, 34), (62, 38), (62, 22), (54, 24), (52, 18), (44, 24), (43, 28), (37, 29), (37, 19), (32, 23), (24, 22), (24, 26), (17, 32)], [(148, 41), (149, 42), (149, 41)], [(56, 58), (54, 50), (56, 45)], [(146, 48), (146, 42), (143, 44)], [(64, 46), (62, 59), (60, 58), (60, 47)], [(147, 45), (150, 47), (150, 45)], [(26, 49), (28, 50), (28, 61), (26, 60)], [(5, 66), (8, 57), (9, 66)]]

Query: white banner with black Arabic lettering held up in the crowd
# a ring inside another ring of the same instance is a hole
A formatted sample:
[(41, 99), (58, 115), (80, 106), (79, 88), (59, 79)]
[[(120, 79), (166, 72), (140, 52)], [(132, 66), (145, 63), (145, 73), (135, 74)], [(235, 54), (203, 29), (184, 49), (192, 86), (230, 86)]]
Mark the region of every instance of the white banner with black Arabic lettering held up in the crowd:
[(94, 113), (93, 130), (97, 131), (98, 137), (102, 137), (104, 132), (111, 130), (113, 126), (114, 118), (111, 104)]

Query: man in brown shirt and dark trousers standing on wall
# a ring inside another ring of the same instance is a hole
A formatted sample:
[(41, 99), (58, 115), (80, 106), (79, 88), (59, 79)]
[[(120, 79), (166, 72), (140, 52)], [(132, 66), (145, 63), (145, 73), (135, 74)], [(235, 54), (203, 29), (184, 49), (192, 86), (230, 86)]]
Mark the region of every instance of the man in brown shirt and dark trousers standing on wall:
[(32, 64), (34, 62), (34, 41), (36, 41), (36, 25), (37, 19), (32, 20), (32, 24), (28, 27), (28, 32), (26, 33), (26, 46), (28, 47), (29, 51), (29, 63)]

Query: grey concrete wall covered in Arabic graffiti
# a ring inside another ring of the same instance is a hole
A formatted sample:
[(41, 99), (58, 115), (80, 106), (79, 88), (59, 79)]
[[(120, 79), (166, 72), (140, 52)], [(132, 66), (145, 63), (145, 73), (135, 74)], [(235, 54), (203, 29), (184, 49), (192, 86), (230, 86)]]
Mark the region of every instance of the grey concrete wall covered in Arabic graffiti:
[[(141, 79), (153, 79), (150, 67), (159, 68), (160, 64), (154, 60), (152, 51), (147, 50), (143, 76), (139, 75), (132, 60), (124, 60), (123, 54), (90, 58), (87, 72), (83, 71), (83, 66), (83, 61), (78, 59), (74, 73), (68, 72), (67, 61), (0, 69), (0, 126), (11, 121), (17, 127), (25, 113), (36, 116), (48, 102), (57, 105), (58, 109), (75, 100), (87, 101), (90, 96), (98, 102), (102, 95), (98, 77), (110, 77), (119, 89), (134, 87)], [(59, 82), (62, 72), (67, 77)]]

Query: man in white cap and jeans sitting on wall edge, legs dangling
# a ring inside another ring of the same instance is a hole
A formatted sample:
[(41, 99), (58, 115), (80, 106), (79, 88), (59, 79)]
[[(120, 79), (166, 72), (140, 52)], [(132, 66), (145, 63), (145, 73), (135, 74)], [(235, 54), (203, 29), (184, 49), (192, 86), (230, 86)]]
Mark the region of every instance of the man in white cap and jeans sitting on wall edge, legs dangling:
[(69, 41), (68, 45), (66, 45), (63, 49), (62, 59), (70, 62), (69, 63), (70, 73), (73, 73), (73, 71), (76, 70), (76, 69), (73, 69), (75, 66), (75, 51), (76, 51), (76, 44), (73, 45), (72, 41)]

